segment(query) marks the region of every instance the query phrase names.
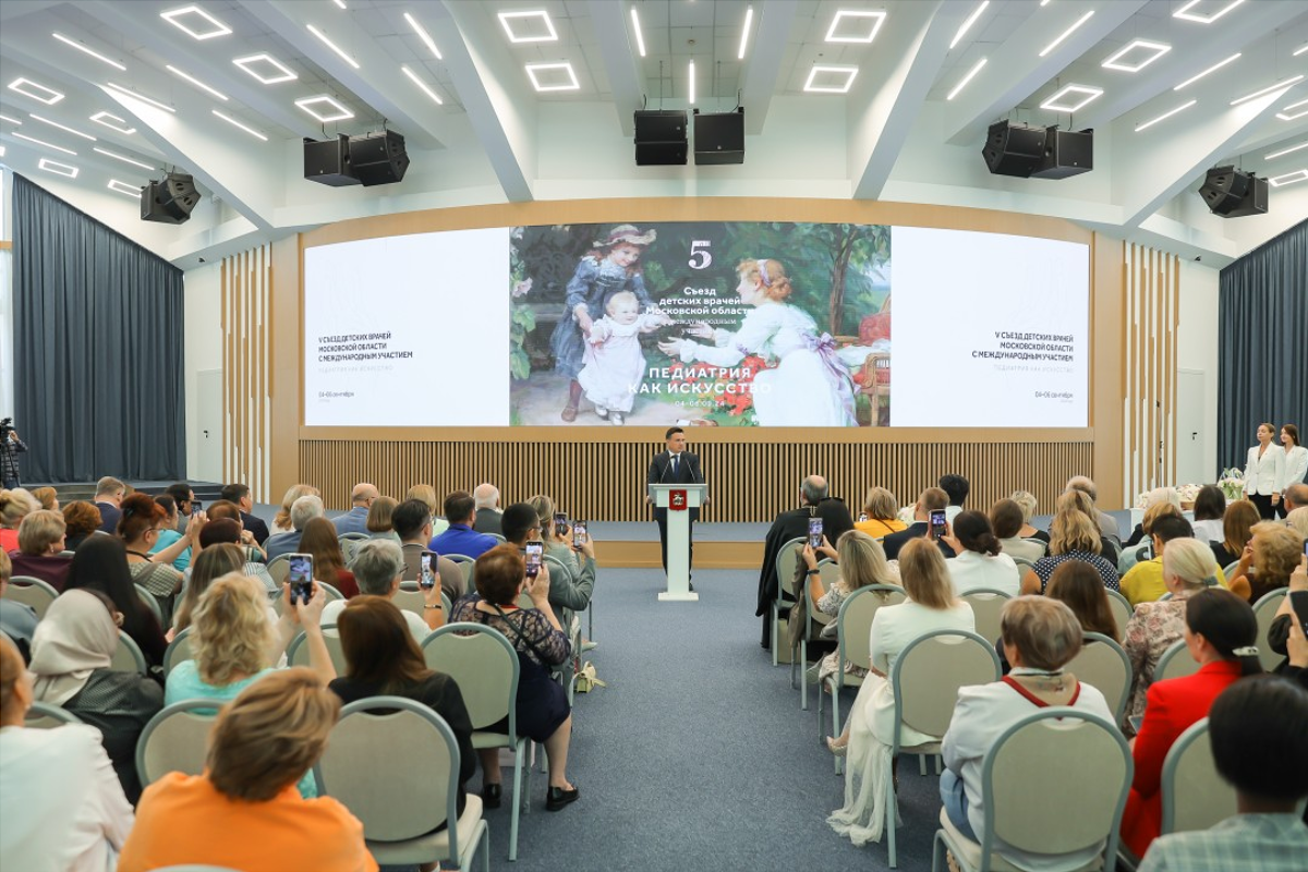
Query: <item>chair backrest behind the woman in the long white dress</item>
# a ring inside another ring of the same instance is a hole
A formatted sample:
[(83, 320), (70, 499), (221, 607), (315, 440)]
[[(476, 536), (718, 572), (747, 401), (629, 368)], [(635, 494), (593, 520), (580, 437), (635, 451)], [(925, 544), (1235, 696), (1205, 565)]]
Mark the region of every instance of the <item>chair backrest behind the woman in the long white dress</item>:
[(899, 711), (893, 753), (899, 753), (903, 724), (927, 736), (943, 736), (954, 718), (959, 688), (990, 684), (1002, 675), (994, 643), (976, 633), (934, 630), (909, 642), (891, 669)]

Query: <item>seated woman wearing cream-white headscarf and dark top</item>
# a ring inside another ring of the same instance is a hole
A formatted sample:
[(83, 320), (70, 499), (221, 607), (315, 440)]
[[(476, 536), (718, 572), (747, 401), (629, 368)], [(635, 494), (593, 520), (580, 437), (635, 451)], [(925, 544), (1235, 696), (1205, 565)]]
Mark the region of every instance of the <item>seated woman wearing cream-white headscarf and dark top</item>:
[(61, 594), (37, 625), (31, 675), (38, 702), (60, 706), (99, 729), (123, 792), (135, 803), (141, 794), (136, 740), (164, 707), (164, 692), (137, 672), (109, 668), (118, 648), (116, 617), (98, 591)]

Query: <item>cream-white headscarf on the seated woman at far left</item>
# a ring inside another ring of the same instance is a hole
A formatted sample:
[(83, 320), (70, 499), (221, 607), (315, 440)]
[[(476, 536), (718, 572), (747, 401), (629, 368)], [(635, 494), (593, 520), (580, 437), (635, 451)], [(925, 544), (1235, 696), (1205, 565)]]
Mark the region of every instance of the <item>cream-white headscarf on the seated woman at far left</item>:
[(31, 639), (33, 690), (38, 701), (61, 706), (95, 669), (109, 667), (118, 647), (118, 626), (103, 600), (89, 591), (60, 594)]

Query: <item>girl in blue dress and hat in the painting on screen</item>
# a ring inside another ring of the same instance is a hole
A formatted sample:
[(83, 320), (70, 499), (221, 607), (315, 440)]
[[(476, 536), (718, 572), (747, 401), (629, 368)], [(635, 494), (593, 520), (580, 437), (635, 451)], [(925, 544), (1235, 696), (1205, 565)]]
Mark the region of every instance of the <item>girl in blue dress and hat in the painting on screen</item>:
[(646, 312), (658, 311), (640, 268), (641, 255), (657, 238), (655, 230), (641, 233), (634, 225), (621, 224), (607, 238), (596, 239), (595, 247), (578, 261), (568, 282), (564, 316), (549, 339), (555, 370), (570, 379), (568, 405), (560, 416), (564, 421), (577, 420), (582, 394), (577, 377), (586, 362), (586, 340), (595, 322), (604, 316), (613, 294), (630, 292)]

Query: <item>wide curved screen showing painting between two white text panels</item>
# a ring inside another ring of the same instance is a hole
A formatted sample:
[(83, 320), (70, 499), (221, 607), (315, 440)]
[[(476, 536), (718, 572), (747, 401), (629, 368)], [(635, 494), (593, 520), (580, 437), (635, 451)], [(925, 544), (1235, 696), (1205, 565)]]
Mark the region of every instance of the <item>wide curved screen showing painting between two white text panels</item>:
[(551, 225), (318, 246), (305, 424), (1080, 428), (1088, 303), (1088, 246), (961, 230)]

